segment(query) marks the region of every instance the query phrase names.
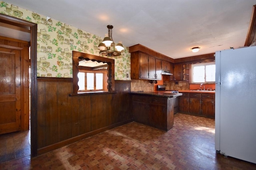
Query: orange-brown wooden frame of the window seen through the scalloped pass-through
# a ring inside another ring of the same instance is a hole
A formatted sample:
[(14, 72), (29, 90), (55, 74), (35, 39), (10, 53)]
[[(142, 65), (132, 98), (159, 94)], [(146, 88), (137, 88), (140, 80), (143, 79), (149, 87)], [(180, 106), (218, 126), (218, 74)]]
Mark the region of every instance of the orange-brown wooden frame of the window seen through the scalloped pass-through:
[[(84, 75), (84, 83), (85, 83), (85, 90), (79, 90), (78, 88), (78, 92), (101, 92), (101, 91), (108, 91), (108, 88), (107, 88), (107, 70), (106, 69), (100, 69), (100, 70), (88, 70), (88, 69), (83, 69), (82, 66), (80, 66), (80, 68), (78, 69), (79, 72), (84, 72), (85, 75)], [(86, 82), (87, 82), (87, 79), (86, 79), (86, 73), (94, 73), (94, 90), (87, 90), (86, 89)], [(96, 73), (102, 73), (103, 74), (103, 89), (96, 89)], [(79, 81), (79, 80), (78, 80)]]

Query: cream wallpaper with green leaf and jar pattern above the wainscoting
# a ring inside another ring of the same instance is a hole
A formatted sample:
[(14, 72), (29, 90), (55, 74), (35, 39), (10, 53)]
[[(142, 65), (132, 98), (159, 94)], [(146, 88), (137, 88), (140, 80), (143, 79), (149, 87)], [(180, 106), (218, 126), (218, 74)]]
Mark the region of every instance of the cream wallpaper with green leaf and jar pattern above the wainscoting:
[[(37, 76), (72, 77), (73, 50), (100, 56), (98, 44), (102, 37), (3, 1), (0, 1), (0, 13), (38, 24)], [(115, 60), (115, 80), (130, 80), (128, 51), (124, 47), (121, 56), (109, 57)]]

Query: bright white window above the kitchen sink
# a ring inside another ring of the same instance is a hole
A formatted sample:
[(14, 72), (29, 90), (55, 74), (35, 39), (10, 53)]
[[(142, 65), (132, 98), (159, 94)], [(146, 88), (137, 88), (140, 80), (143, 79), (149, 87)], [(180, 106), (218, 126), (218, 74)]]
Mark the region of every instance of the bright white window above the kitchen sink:
[(215, 82), (215, 62), (192, 64), (192, 83)]

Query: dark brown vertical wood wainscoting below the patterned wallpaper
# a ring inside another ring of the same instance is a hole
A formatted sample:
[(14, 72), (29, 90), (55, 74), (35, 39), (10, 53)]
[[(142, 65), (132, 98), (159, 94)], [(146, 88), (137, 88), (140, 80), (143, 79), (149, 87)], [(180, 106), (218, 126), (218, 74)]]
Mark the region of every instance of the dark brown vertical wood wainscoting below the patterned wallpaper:
[(130, 81), (113, 94), (68, 96), (72, 78), (38, 78), (38, 155), (132, 122)]

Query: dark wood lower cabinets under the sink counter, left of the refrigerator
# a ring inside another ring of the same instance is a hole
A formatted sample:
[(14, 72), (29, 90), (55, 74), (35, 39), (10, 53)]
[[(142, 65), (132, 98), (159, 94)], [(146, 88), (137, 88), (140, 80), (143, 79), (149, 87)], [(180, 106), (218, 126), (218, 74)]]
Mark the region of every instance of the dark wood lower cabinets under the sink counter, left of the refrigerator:
[(215, 117), (215, 94), (182, 93), (179, 97), (179, 111), (204, 117)]

